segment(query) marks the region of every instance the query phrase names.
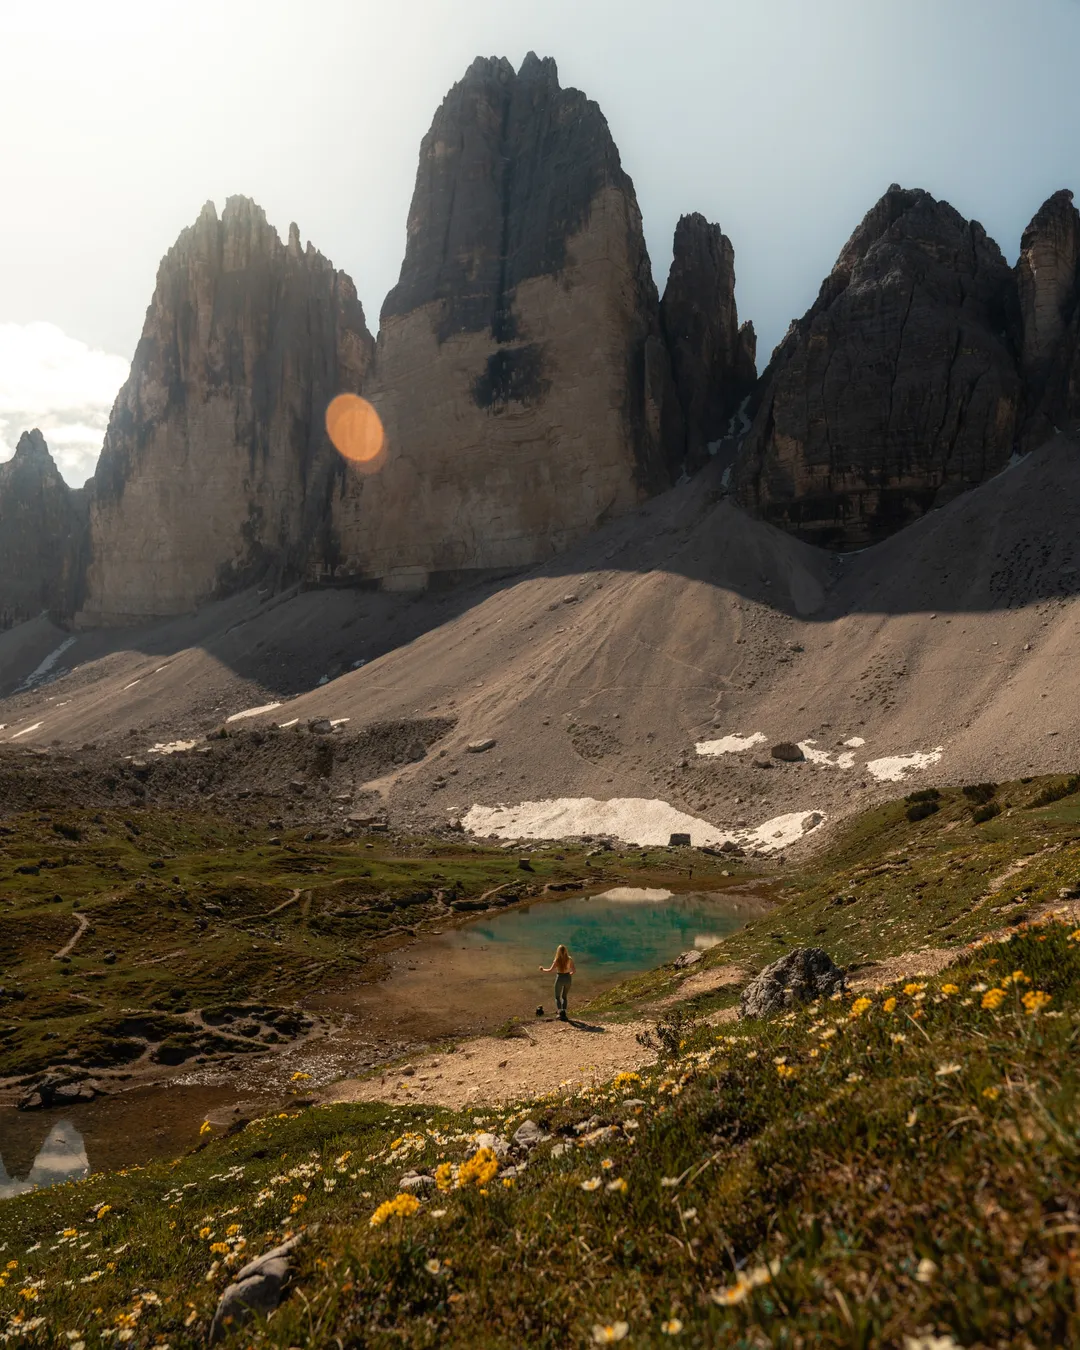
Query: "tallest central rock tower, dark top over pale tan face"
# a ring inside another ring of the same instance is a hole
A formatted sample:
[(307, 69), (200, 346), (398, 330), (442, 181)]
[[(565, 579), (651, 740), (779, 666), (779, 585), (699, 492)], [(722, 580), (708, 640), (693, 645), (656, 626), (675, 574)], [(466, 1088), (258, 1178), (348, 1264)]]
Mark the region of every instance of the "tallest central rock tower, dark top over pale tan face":
[(535, 563), (668, 481), (680, 413), (633, 184), (554, 61), (478, 59), (436, 113), (369, 397), (389, 454), (335, 497), (342, 576)]

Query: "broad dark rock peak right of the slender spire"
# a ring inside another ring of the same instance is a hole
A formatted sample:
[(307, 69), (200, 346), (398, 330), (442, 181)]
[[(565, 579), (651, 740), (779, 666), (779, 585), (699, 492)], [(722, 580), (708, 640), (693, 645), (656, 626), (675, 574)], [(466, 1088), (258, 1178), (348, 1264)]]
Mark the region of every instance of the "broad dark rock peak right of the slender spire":
[(774, 352), (741, 500), (859, 548), (983, 482), (1017, 443), (1015, 321), (1013, 273), (983, 227), (890, 188)]

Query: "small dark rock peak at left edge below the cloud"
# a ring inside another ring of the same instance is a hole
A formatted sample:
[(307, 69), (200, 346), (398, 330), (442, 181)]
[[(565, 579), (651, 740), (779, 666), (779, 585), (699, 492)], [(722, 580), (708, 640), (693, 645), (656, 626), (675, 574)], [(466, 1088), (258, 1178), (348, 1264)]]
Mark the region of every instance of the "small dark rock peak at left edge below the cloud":
[(86, 494), (61, 478), (39, 431), (0, 464), (0, 629), (49, 610), (70, 617), (78, 599)]

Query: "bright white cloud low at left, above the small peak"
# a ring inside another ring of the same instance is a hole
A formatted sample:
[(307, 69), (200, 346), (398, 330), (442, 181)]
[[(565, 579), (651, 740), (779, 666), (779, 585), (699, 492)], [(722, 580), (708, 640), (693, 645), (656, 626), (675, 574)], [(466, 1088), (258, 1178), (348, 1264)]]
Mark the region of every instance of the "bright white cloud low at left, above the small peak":
[(55, 324), (0, 324), (0, 460), (39, 427), (73, 487), (93, 473), (130, 363)]

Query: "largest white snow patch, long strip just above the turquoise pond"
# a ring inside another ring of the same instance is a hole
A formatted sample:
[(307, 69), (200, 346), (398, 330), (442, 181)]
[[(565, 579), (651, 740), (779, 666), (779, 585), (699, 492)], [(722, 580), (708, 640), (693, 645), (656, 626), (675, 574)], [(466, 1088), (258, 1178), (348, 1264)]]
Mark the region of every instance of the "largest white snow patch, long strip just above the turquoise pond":
[(676, 811), (656, 798), (560, 796), (517, 806), (473, 806), (462, 818), (471, 833), (502, 840), (563, 840), (582, 834), (606, 834), (626, 844), (663, 846), (672, 834), (688, 834), (694, 848), (728, 841), (748, 849), (776, 852), (825, 824), (821, 811), (792, 811), (765, 821), (753, 830), (724, 830), (695, 815)]

